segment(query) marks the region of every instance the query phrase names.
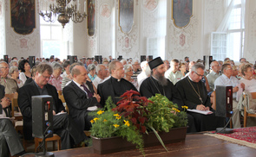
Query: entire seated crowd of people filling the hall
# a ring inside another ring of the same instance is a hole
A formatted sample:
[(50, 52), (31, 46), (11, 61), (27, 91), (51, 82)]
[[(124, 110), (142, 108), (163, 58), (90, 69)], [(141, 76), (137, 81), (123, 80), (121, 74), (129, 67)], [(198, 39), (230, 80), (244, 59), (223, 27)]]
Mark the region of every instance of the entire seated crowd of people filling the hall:
[[(82, 57), (78, 62), (36, 58), (31, 67), (26, 59), (16, 57), (0, 61), (0, 116), (10, 116), (10, 100), (4, 94), (18, 93), (18, 105), (23, 115), (25, 140), (32, 140), (31, 97), (53, 97), (53, 129), (62, 139), (62, 149), (74, 148), (88, 139), (83, 130), (89, 130), (94, 118), (89, 112), (102, 108), (108, 97), (116, 104), (120, 96), (129, 90), (139, 91), (143, 97), (156, 93), (166, 96), (174, 104), (187, 105), (188, 109), (212, 110), (211, 115), (187, 112), (187, 132), (213, 130), (225, 125), (225, 119), (215, 116), (211, 102), (216, 85), (233, 86), (233, 127), (240, 128), (240, 110), (237, 110), (240, 91), (256, 91), (255, 65), (241, 58), (213, 60), (210, 69), (205, 69), (203, 60), (154, 60), (104, 58), (98, 63), (94, 58)], [(69, 114), (58, 98), (62, 93)], [(62, 114), (59, 114), (62, 113)], [(24, 149), (9, 119), (0, 119), (1, 156), (23, 154)], [(8, 126), (8, 127), (6, 127)], [(9, 138), (12, 136), (11, 138)], [(6, 143), (15, 142), (16, 145)], [(4, 151), (3, 151), (4, 150)], [(5, 154), (5, 155), (3, 155)]]

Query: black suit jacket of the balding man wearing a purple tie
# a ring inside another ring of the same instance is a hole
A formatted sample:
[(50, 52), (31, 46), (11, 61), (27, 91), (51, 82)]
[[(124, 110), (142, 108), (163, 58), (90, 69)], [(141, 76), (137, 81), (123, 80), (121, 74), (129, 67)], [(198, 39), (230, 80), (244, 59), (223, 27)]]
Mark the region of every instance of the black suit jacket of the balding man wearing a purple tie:
[[(89, 91), (95, 92), (93, 85), (91, 82), (87, 81), (86, 83), (89, 87)], [(75, 85), (74, 81), (67, 86), (65, 86), (62, 90), (65, 101), (69, 107), (69, 115), (82, 126), (84, 129), (85, 125), (85, 117), (88, 114), (88, 108), (95, 106), (98, 104), (97, 99), (95, 97), (88, 98), (86, 93), (82, 91), (77, 85)]]

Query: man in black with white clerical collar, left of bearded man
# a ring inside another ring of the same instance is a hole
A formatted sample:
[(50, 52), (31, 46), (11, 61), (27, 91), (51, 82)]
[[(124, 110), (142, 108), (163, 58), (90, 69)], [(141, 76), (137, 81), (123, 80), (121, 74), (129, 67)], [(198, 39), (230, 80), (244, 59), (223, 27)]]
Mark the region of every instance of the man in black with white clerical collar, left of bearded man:
[(109, 96), (112, 97), (113, 102), (116, 104), (121, 99), (120, 96), (126, 91), (137, 91), (135, 85), (123, 79), (124, 70), (120, 61), (111, 61), (108, 71), (111, 75), (110, 79), (99, 84), (97, 88), (98, 94), (101, 97), (102, 106), (105, 105)]

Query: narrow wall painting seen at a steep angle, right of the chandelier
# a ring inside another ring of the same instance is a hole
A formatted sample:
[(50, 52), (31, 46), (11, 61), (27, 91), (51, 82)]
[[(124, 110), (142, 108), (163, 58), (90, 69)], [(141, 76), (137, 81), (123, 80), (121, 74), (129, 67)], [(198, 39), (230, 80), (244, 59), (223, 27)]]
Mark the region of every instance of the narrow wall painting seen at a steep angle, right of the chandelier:
[(95, 0), (87, 1), (87, 29), (88, 35), (95, 35)]

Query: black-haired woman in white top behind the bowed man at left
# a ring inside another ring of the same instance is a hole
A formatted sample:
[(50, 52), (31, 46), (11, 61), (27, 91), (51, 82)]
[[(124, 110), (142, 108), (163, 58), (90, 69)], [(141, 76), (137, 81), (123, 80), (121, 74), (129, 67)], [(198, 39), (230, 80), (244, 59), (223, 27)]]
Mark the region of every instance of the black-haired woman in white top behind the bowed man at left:
[(21, 79), (23, 83), (25, 83), (26, 79), (30, 79), (32, 77), (32, 74), (30, 72), (30, 62), (28, 60), (21, 60), (18, 67), (21, 71), (19, 79)]

